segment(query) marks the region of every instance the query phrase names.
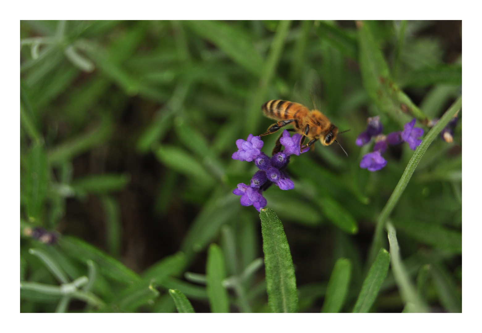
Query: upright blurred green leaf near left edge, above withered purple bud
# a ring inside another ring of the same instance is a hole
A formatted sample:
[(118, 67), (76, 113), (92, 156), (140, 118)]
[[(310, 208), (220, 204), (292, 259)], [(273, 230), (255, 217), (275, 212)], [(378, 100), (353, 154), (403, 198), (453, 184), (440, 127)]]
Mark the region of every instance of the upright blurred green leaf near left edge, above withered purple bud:
[(48, 189), (49, 165), (43, 144), (32, 146), (27, 163), (27, 216), (33, 222), (40, 218)]

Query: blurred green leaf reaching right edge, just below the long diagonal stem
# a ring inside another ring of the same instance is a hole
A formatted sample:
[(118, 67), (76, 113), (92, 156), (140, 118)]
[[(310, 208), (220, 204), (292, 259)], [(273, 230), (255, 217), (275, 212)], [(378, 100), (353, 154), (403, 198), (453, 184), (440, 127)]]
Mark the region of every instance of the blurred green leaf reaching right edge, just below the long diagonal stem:
[(440, 224), (423, 221), (397, 220), (395, 226), (411, 238), (441, 250), (462, 254), (462, 233), (449, 230)]

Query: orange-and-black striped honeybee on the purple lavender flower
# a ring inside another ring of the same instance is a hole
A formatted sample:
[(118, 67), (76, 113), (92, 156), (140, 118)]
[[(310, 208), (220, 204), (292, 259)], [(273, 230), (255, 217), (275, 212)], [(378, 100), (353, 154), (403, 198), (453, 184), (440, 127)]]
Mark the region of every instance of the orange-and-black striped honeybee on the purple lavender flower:
[[(297, 132), (303, 136), (300, 142), (300, 151), (306, 147), (310, 147), (318, 140), (320, 140), (324, 146), (329, 146), (333, 142), (338, 143), (338, 141), (336, 141), (336, 136), (339, 134), (338, 128), (330, 122), (330, 119), (328, 119), (326, 115), (323, 115), (318, 110), (310, 111), (303, 104), (283, 100), (268, 101), (261, 106), (261, 109), (268, 118), (279, 121), (269, 126), (266, 132), (260, 136), (274, 133), (280, 128), (293, 123), (295, 128), (288, 130)], [(308, 144), (303, 146), (306, 138), (309, 140)], [(343, 147), (341, 149), (343, 149)], [(281, 143), (280, 139), (278, 139), (273, 148), (273, 154), (278, 153), (280, 150)], [(343, 151), (345, 152), (344, 149)], [(347, 152), (345, 152), (345, 154), (347, 154)]]

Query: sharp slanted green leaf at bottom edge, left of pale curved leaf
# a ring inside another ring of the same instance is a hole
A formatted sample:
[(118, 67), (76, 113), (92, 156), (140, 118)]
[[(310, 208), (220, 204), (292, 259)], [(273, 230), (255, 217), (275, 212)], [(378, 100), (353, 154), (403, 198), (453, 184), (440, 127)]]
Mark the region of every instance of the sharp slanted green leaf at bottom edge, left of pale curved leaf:
[(368, 274), (363, 281), (362, 290), (358, 295), (353, 313), (362, 312), (367, 313), (375, 302), (376, 296), (380, 291), (380, 287), (387, 277), (388, 267), (390, 266), (390, 254), (385, 249), (380, 249), (375, 262), (368, 271)]

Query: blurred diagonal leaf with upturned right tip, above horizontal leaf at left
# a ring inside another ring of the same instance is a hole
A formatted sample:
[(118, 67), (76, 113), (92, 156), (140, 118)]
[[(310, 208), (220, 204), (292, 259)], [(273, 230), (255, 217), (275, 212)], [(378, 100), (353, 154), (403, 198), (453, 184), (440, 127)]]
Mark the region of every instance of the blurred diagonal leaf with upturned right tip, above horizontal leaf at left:
[(74, 139), (70, 139), (61, 143), (48, 153), (51, 165), (60, 165), (72, 160), (79, 154), (82, 154), (93, 147), (107, 141), (113, 131), (112, 119), (109, 116), (103, 116), (100, 126), (91, 131), (81, 134)]

